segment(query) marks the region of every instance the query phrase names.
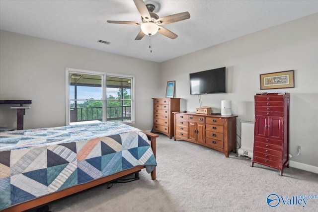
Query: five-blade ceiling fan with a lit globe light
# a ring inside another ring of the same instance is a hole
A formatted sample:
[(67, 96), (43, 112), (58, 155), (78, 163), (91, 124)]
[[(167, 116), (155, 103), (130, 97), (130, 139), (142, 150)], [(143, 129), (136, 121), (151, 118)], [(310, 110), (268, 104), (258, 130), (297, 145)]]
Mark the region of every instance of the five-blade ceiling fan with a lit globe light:
[(168, 15), (159, 18), (159, 16), (154, 13), (154, 4), (145, 4), (143, 0), (134, 0), (134, 3), (141, 14), (142, 22), (135, 21), (110, 21), (108, 23), (119, 23), (119, 24), (136, 24), (140, 25), (140, 32), (138, 33), (135, 40), (141, 40), (145, 35), (152, 36), (159, 32), (168, 38), (175, 39), (178, 35), (174, 34), (170, 30), (162, 27), (163, 24), (174, 23), (177, 21), (185, 20), (190, 18), (189, 12), (181, 12), (173, 15)]

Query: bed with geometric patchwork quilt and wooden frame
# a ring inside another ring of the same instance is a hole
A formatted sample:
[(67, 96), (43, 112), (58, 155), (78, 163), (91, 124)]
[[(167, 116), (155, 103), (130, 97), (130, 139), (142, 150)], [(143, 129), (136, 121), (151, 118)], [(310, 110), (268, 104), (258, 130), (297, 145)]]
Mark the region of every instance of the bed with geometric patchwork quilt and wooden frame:
[(154, 180), (157, 137), (114, 122), (0, 133), (0, 211), (32, 209), (143, 168)]

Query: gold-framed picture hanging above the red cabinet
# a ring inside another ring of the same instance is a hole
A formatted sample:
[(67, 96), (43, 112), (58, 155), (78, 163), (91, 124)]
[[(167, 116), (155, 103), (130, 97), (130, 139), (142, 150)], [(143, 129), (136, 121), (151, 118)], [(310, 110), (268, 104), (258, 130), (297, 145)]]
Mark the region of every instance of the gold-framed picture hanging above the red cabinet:
[(259, 80), (261, 90), (295, 87), (294, 70), (260, 74)]

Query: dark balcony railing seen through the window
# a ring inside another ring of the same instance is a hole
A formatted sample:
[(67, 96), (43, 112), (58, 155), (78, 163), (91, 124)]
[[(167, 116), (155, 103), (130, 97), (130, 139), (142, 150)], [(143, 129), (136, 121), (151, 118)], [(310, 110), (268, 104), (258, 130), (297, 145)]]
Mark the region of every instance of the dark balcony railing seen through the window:
[[(71, 122), (102, 121), (102, 107), (71, 108)], [(131, 106), (107, 107), (107, 121), (131, 120)]]

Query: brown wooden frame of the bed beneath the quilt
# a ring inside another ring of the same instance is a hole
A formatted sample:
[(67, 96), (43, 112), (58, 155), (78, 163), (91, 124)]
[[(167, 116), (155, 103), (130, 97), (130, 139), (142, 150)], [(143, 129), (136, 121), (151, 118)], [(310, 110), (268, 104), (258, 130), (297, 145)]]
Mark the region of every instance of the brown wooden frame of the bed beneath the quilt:
[[(159, 135), (156, 135), (156, 134), (153, 134), (153, 133), (150, 133), (147, 131), (143, 131), (143, 133), (145, 133), (147, 135), (148, 139), (151, 141), (151, 148), (153, 149), (154, 155), (156, 157), (156, 138), (159, 137)], [(87, 183), (72, 186), (70, 188), (67, 188), (67, 189), (64, 189), (64, 190), (61, 190), (58, 192), (54, 192), (54, 193), (51, 193), (51, 194), (48, 194), (48, 195), (45, 195), (45, 196), (42, 196), (42, 197), (39, 197), (39, 198), (36, 198), (33, 200), (29, 200), (27, 202), (23, 202), (23, 203), (20, 203), (17, 205), (10, 206), (8, 208), (1, 210), (0, 212), (21, 212), (21, 211), (25, 211), (28, 209), (38, 207), (38, 206), (42, 206), (42, 205), (45, 205), (45, 204), (50, 203), (52, 201), (61, 199), (63, 197), (67, 197), (69, 195), (78, 193), (80, 191), (84, 191), (86, 189), (92, 188), (94, 186), (98, 186), (100, 184), (107, 183), (107, 182), (115, 180), (117, 178), (141, 171), (143, 168), (145, 168), (145, 166), (136, 166), (136, 167), (133, 167), (131, 169), (127, 169), (127, 170), (120, 171), (120, 172), (117, 172), (117, 173), (112, 174), (112, 175), (108, 175), (108, 176), (105, 176), (105, 177), (102, 177), (102, 178), (99, 178), (99, 179), (96, 179), (93, 181), (89, 181)], [(151, 179), (156, 180), (156, 168), (151, 172)]]

